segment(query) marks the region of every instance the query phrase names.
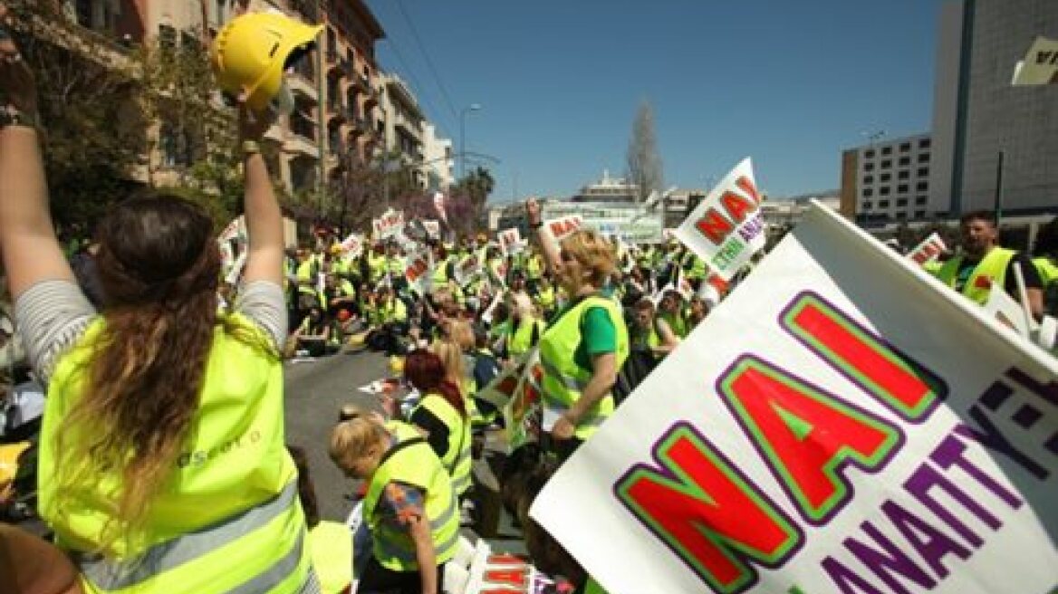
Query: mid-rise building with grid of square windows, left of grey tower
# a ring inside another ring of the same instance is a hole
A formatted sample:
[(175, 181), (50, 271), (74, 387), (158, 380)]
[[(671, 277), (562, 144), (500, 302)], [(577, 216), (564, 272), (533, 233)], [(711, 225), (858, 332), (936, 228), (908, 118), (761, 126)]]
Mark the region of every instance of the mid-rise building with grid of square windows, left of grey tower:
[(849, 149), (841, 156), (840, 211), (861, 224), (946, 215), (930, 200), (932, 137), (905, 136)]

